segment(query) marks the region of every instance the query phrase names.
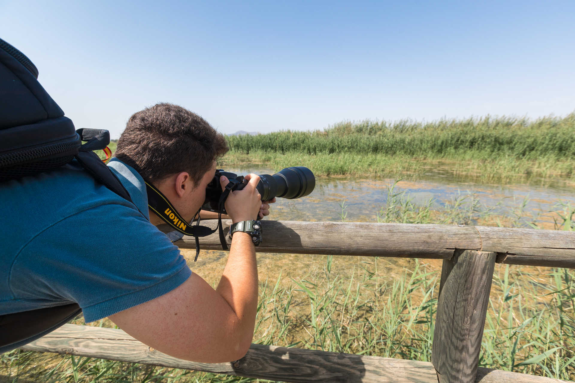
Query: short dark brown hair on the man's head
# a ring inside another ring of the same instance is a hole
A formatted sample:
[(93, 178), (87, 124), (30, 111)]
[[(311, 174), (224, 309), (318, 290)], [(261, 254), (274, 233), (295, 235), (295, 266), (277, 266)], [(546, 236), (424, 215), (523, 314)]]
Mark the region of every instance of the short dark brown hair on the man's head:
[(187, 172), (197, 185), (228, 150), (224, 135), (205, 119), (181, 106), (158, 103), (130, 117), (114, 155), (148, 182)]

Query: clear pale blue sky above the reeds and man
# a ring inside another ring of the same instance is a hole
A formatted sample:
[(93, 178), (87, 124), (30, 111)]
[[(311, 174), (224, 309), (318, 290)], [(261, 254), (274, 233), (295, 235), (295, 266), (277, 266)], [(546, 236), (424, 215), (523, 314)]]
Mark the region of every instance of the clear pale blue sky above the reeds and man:
[(11, 1), (0, 37), (76, 127), (156, 102), (223, 133), (566, 115), (575, 1)]

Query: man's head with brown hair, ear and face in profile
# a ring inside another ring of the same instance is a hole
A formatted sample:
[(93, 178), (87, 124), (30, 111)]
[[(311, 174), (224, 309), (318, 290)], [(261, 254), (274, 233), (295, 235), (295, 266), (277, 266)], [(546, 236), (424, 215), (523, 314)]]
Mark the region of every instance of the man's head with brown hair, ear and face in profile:
[[(181, 106), (159, 103), (130, 117), (115, 156), (162, 191), (186, 220), (205, 199), (216, 158), (228, 151), (224, 135)], [(154, 225), (161, 223), (152, 213)]]

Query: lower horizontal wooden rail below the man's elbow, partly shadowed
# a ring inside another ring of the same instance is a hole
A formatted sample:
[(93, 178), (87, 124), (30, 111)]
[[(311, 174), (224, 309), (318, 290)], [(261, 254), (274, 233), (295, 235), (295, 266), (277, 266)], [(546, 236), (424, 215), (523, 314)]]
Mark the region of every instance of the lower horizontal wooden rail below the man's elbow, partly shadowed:
[[(213, 364), (189, 362), (150, 349), (122, 330), (75, 324), (65, 324), (43, 338), (28, 343), (22, 349), (285, 382), (436, 383), (438, 381), (435, 369), (429, 362), (264, 345), (252, 345), (247, 355), (235, 362)], [(477, 371), (475, 381), (563, 382), (481, 367)]]

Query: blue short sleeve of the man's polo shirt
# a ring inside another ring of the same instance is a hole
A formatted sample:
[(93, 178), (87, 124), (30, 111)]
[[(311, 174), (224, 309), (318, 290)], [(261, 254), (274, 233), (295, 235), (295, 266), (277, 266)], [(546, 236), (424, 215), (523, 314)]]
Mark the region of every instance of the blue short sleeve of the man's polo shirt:
[(190, 275), (178, 247), (139, 211), (105, 204), (30, 241), (14, 262), (10, 288), (17, 299), (44, 305), (74, 301), (93, 322), (162, 296)]

